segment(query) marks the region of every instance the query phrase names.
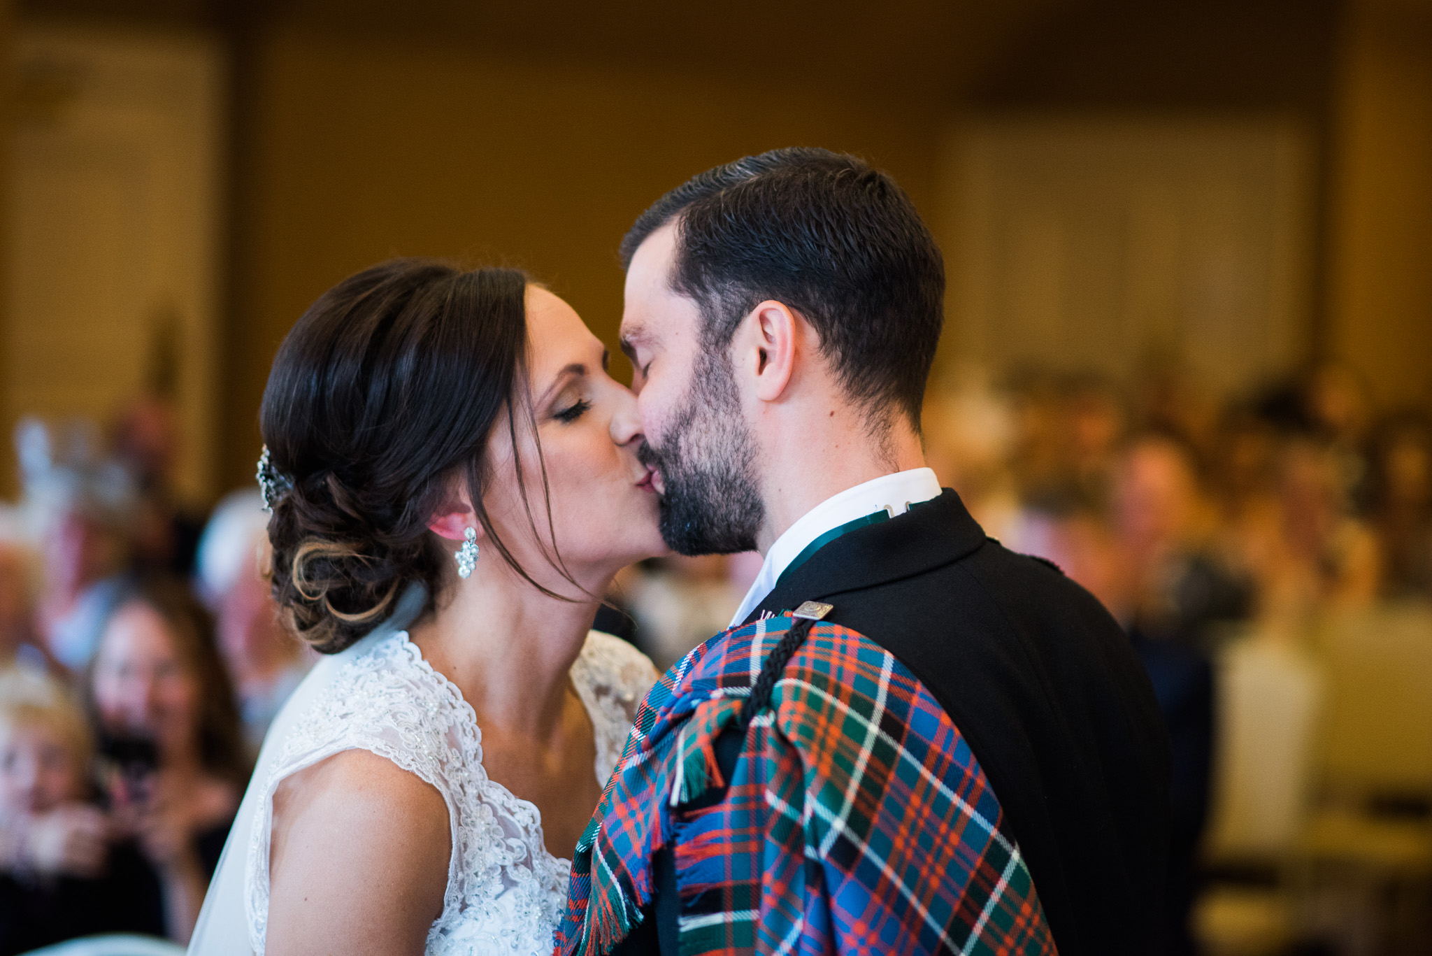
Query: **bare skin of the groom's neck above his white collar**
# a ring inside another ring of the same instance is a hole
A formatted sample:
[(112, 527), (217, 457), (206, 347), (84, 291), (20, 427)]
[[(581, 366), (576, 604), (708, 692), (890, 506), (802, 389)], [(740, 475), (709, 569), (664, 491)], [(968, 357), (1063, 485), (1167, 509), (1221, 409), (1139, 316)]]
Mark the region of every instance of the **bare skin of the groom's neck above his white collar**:
[(788, 416), (765, 439), (760, 480), (766, 520), (756, 536), (760, 553), (828, 497), (925, 466), (919, 434), (898, 413), (882, 427), (872, 427), (868, 413), (851, 407)]

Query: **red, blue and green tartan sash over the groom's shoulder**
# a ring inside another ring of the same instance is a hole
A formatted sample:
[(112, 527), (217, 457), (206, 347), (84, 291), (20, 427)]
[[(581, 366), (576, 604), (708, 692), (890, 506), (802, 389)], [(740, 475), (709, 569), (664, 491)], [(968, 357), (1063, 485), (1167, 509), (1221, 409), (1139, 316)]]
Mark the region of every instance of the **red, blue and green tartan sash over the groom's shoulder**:
[(680, 956), (1054, 953), (959, 730), (853, 631), (811, 629), (752, 722), (725, 797), (702, 807), (726, 783), (715, 741), (792, 622), (712, 638), (643, 701), (577, 844), (557, 952), (604, 956), (620, 943), (650, 902), (652, 856), (670, 843)]

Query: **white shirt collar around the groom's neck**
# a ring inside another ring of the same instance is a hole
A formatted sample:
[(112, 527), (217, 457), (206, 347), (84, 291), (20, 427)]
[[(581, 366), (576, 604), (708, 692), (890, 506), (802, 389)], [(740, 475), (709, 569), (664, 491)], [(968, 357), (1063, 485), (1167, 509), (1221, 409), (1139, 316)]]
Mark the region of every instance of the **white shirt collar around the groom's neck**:
[(766, 599), (790, 562), (821, 535), (879, 510), (888, 510), (889, 516), (895, 517), (904, 515), (911, 505), (932, 497), (939, 497), (939, 479), (931, 469), (911, 469), (882, 474), (825, 499), (788, 527), (766, 552), (766, 562), (760, 566), (760, 573), (756, 575), (740, 608), (736, 609), (736, 616), (730, 619), (730, 626), (735, 628), (745, 621), (756, 605)]

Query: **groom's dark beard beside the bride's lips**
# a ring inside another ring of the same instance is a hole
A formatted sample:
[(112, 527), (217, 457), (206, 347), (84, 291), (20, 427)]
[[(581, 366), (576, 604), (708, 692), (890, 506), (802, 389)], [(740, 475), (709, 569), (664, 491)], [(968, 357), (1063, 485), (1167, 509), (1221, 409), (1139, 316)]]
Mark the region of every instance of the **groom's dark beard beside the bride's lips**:
[(753, 477), (755, 444), (740, 413), (736, 380), (719, 357), (703, 354), (692, 374), (686, 404), (660, 447), (637, 451), (659, 470), (660, 529), (679, 555), (730, 555), (755, 550), (766, 509)]

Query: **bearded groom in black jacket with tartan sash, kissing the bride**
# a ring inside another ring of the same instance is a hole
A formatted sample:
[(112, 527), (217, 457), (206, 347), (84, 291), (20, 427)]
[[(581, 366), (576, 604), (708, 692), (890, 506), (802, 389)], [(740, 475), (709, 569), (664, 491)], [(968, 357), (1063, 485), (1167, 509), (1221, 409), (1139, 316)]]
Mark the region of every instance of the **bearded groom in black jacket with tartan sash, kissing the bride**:
[(558, 949), (1150, 952), (1158, 711), (1098, 602), (924, 467), (944, 265), (905, 193), (782, 149), (621, 257), (663, 536), (766, 560), (643, 701)]

